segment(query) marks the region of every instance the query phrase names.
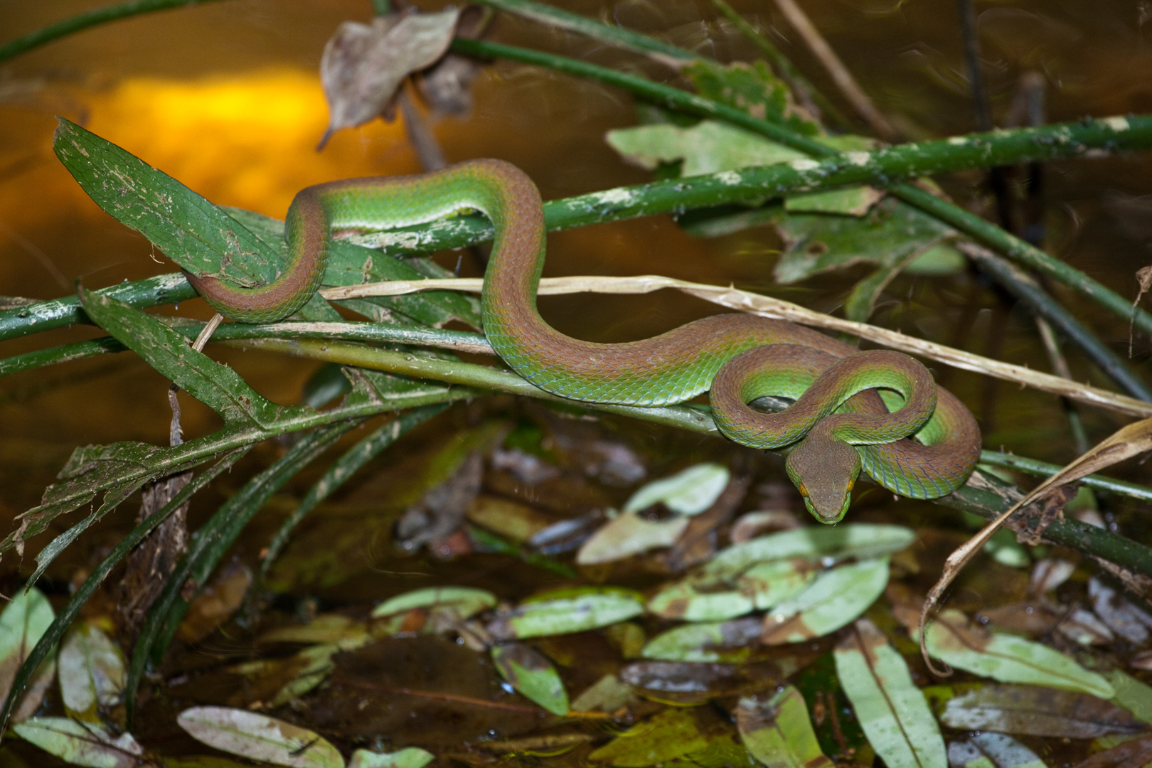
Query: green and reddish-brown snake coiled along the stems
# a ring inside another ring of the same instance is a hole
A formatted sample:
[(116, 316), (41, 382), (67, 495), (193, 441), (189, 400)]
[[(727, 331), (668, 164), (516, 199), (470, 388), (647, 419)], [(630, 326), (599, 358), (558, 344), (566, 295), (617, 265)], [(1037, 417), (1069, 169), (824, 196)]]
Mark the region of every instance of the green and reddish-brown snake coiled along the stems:
[[(319, 288), (333, 231), (391, 229), (462, 211), (484, 213), (495, 229), (482, 295), (484, 333), (505, 363), (540, 389), (642, 406), (711, 390), (717, 425), (730, 439), (753, 448), (795, 446), (788, 474), (824, 523), (848, 511), (861, 469), (894, 493), (935, 499), (963, 485), (976, 466), (980, 433), (972, 415), (935, 387), (923, 365), (899, 352), (861, 352), (810, 328), (752, 314), (718, 314), (620, 344), (555, 330), (536, 309), (545, 256), (540, 193), (526, 174), (501, 160), (309, 187), (288, 208), (288, 258), (272, 283), (238, 288), (213, 276), (188, 279), (220, 314), (272, 322), (300, 310)], [(765, 395), (796, 402), (780, 413), (746, 405)]]

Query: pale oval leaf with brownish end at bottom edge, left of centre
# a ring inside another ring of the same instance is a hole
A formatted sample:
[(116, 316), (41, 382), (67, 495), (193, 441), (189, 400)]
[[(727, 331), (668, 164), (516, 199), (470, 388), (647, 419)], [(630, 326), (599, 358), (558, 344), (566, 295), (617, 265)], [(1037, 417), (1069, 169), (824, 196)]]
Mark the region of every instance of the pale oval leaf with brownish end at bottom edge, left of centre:
[(319, 735), (282, 720), (228, 707), (192, 707), (176, 723), (221, 752), (290, 768), (343, 768), (336, 747)]

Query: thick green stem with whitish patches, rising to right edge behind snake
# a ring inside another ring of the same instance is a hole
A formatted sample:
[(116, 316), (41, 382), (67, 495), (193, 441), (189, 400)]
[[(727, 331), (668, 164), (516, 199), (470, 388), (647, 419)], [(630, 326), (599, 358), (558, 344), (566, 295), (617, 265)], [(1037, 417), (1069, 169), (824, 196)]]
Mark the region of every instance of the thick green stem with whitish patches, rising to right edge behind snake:
[[(457, 40), (456, 43), (475, 41)], [(501, 50), (508, 50), (508, 46), (501, 46)], [(523, 50), (511, 48), (511, 51)], [(528, 53), (533, 54), (532, 63), (541, 66), (555, 63), (553, 60), (558, 59), (552, 54)], [(652, 92), (653, 98), (664, 93), (668, 98), (684, 96), (699, 99), (690, 93), (602, 67), (593, 67), (570, 59), (563, 61), (575, 67), (574, 74), (579, 74), (588, 68), (591, 68), (589, 71), (592, 74), (611, 74), (613, 84), (621, 88), (643, 85), (644, 88), (660, 89), (658, 92)], [(711, 101), (707, 104), (721, 108), (718, 116), (727, 119), (727, 116), (736, 115), (745, 123), (751, 121), (753, 124), (771, 126), (771, 123), (757, 121), (738, 109), (715, 105)], [(725, 204), (760, 205), (767, 199), (795, 192), (812, 192), (852, 184), (882, 187), (899, 178), (986, 168), (996, 165), (1074, 158), (1089, 152), (1121, 152), (1152, 147), (1152, 116), (1128, 117), (1127, 126), (1126, 130), (1116, 130), (1114, 122), (1091, 121), (993, 131), (991, 134), (971, 134), (953, 139), (901, 144), (873, 152), (835, 155), (819, 164), (786, 162), (689, 178), (670, 178), (550, 200), (544, 204), (544, 216), (550, 230), (570, 229), (636, 216), (681, 214), (692, 208)], [(823, 147), (819, 144), (817, 146)], [(927, 193), (925, 192), (925, 195)], [(931, 200), (937, 199), (931, 195), (927, 197)], [(1002, 231), (979, 218), (975, 218), (975, 221), (992, 230)], [(973, 226), (976, 225), (973, 223)], [(408, 233), (418, 234), (419, 237), (402, 237)], [(490, 239), (492, 239), (492, 226), (487, 219), (483, 216), (455, 216), (427, 225), (389, 230), (389, 243), (408, 241), (418, 242), (419, 245), (416, 248), (387, 245), (384, 251), (389, 256), (432, 252), (463, 248)], [(1084, 276), (1070, 267), (1068, 269), (1074, 275)], [(181, 273), (120, 283), (103, 288), (100, 292), (106, 292), (137, 309), (147, 309), (196, 297), (196, 291)], [(1119, 301), (1123, 302), (1123, 299)], [(1124, 315), (1127, 318), (1131, 305), (1126, 303), (1124, 306), (1127, 307)], [(0, 341), (78, 322), (88, 322), (88, 317), (79, 309), (75, 296), (15, 307), (0, 312)]]

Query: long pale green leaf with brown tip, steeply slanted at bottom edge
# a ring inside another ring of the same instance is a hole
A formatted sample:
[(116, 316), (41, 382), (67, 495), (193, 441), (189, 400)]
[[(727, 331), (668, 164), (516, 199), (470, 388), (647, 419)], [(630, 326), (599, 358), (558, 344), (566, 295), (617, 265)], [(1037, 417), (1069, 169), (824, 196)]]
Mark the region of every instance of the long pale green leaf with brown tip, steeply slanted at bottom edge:
[(836, 675), (869, 742), (889, 768), (945, 768), (943, 738), (908, 664), (862, 618), (836, 645)]

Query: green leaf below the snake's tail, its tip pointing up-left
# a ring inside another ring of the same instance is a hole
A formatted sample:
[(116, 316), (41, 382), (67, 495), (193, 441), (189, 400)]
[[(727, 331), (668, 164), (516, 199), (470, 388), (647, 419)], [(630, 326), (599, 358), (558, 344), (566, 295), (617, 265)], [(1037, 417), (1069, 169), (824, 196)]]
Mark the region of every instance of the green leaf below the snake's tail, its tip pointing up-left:
[(188, 345), (188, 339), (137, 309), (97, 291), (79, 290), (81, 304), (92, 321), (153, 368), (200, 401), (225, 423), (268, 427), (276, 419), (311, 412), (265, 400), (229, 366)]

